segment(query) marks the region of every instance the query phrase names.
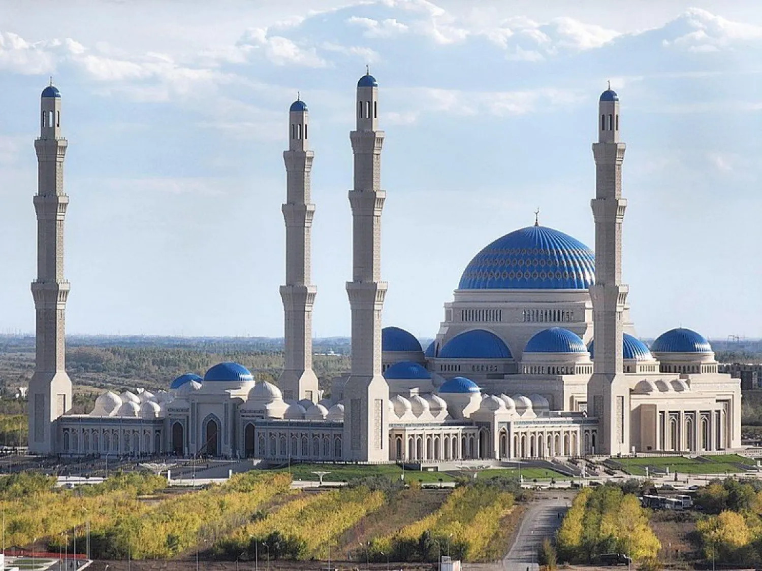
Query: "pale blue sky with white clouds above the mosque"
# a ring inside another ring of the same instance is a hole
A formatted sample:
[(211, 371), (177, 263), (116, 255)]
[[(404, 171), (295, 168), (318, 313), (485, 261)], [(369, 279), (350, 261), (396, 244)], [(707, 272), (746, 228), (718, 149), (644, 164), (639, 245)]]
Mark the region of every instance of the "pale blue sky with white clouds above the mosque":
[[(282, 334), (287, 109), (315, 149), (316, 336), (349, 331), (354, 85), (386, 130), (384, 320), (432, 337), (485, 244), (594, 242), (607, 80), (627, 143), (638, 333), (762, 336), (757, 2), (57, 2), (0, 6), (0, 331), (34, 329), (37, 106), (69, 139), (70, 333)], [(541, 5), (541, 6), (539, 6)]]

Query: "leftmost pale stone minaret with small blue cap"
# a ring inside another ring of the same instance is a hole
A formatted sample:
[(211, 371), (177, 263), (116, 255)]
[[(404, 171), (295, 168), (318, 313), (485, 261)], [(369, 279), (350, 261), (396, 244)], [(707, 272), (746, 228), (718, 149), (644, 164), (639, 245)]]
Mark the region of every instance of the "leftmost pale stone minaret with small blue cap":
[(61, 94), (51, 84), (42, 93), (37, 150), (37, 279), (32, 282), (37, 311), (37, 360), (29, 383), (29, 450), (51, 454), (58, 448), (56, 419), (72, 407), (66, 375), (64, 317), (69, 282), (63, 277), (63, 220), (69, 196), (63, 191), (66, 139), (61, 136)]

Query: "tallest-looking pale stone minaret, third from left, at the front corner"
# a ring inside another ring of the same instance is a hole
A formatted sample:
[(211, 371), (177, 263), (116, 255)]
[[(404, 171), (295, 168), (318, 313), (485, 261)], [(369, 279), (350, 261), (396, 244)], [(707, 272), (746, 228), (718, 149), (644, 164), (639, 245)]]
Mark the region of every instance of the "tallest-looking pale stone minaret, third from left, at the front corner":
[(347, 294), (352, 310), (352, 369), (344, 389), (343, 455), (353, 461), (389, 459), (389, 385), (381, 375), (381, 313), (386, 282), (381, 281), (381, 147), (378, 84), (370, 73), (357, 82), (357, 130), (350, 133), (354, 152), (352, 207), (352, 281)]

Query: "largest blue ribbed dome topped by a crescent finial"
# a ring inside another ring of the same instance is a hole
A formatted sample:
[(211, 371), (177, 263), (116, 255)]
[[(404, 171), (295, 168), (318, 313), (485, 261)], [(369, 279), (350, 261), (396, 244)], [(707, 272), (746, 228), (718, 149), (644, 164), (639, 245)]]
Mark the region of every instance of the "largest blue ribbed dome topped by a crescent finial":
[(563, 232), (528, 226), (498, 238), (466, 266), (459, 289), (588, 289), (593, 250)]

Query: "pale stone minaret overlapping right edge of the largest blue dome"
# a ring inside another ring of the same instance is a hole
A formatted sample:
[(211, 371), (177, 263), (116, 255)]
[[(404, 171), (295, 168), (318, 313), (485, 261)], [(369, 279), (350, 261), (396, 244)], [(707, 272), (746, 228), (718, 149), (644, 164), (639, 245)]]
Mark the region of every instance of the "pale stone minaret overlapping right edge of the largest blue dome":
[[(628, 288), (622, 283), (622, 198), (619, 97), (608, 89), (598, 104), (598, 142), (593, 145), (596, 192), (591, 201), (595, 219), (595, 285), (593, 301), (595, 358), (588, 384), (588, 411), (600, 419), (595, 452), (627, 453), (629, 387), (623, 375), (623, 311)], [(592, 408), (591, 408), (592, 407)]]

